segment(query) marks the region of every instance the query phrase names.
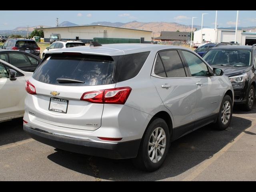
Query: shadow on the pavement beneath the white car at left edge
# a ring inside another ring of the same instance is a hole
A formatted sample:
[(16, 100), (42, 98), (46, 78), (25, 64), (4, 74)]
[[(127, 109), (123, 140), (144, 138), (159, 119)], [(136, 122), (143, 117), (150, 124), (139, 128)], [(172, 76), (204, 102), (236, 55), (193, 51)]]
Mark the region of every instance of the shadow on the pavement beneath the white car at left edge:
[(0, 123), (0, 146), (30, 138), (23, 131), (23, 118)]

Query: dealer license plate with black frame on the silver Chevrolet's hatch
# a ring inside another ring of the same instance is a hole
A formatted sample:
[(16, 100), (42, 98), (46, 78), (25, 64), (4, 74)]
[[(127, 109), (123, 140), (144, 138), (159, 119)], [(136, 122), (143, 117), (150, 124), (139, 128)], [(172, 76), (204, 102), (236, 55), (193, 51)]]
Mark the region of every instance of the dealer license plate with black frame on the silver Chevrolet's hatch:
[(60, 112), (60, 113), (67, 113), (68, 109), (68, 100), (60, 99), (60, 98), (50, 98), (49, 110)]

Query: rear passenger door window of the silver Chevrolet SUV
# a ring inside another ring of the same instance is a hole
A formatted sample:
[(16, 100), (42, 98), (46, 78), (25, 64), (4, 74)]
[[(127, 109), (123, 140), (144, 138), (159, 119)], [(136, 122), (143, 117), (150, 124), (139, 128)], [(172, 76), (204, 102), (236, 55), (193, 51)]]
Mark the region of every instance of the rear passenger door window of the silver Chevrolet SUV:
[(186, 77), (184, 66), (177, 50), (162, 51), (158, 54), (168, 78)]

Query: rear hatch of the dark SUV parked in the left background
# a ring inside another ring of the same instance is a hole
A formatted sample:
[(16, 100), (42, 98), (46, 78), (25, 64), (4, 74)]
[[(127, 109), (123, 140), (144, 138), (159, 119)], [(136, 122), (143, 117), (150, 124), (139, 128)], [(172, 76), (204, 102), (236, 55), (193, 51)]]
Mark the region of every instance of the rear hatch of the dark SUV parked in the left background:
[(16, 49), (38, 56), (40, 48), (35, 41), (19, 40), (15, 44)]

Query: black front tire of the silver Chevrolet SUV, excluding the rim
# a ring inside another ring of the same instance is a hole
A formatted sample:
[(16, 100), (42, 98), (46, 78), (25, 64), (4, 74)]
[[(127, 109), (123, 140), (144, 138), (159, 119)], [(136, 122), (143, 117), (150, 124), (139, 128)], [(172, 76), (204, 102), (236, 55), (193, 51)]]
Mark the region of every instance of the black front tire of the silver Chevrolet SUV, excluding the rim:
[[(225, 102), (229, 102), (230, 104), (230, 117), (228, 119), (228, 122), (226, 122), (224, 124), (224, 122), (222, 122), (222, 108), (224, 108), (224, 104)], [(220, 105), (220, 111), (219, 111), (219, 114), (218, 114), (218, 119), (215, 123), (215, 127), (218, 129), (218, 130), (225, 130), (226, 128), (228, 128), (229, 124), (230, 124), (230, 121), (232, 119), (232, 113), (233, 113), (233, 102), (232, 102), (232, 99), (229, 95), (225, 95), (222, 102), (221, 102), (221, 105)]]

